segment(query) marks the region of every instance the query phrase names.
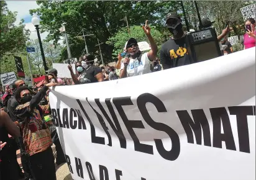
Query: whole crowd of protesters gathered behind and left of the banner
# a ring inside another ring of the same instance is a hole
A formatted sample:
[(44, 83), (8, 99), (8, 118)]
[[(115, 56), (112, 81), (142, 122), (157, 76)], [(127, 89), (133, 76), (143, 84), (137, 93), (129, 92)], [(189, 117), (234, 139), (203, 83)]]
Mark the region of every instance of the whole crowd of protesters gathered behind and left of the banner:
[[(102, 81), (113, 81), (119, 78), (128, 78), (155, 71), (166, 70), (178, 66), (190, 65), (190, 56), (187, 53), (175, 53), (180, 48), (187, 48), (185, 37), (187, 32), (182, 28), (181, 17), (176, 12), (170, 12), (165, 19), (167, 29), (173, 35), (160, 49), (160, 58), (157, 57), (158, 48), (150, 34), (148, 21), (142, 27), (150, 43), (148, 52), (140, 51), (135, 38), (129, 38), (124, 45), (124, 52), (117, 57), (114, 66), (94, 65), (94, 56), (87, 53), (75, 63), (75, 71), (71, 65), (68, 70), (71, 74), (71, 84), (87, 84)], [(202, 29), (213, 25), (209, 19), (202, 19)], [(244, 35), (244, 48), (255, 47), (255, 20), (245, 21), (247, 28)], [(222, 48), (222, 54), (232, 53), (232, 45), (227, 40), (231, 29), (227, 26), (217, 37)], [(50, 69), (45, 75), (44, 83), (37, 88), (30, 89), (23, 80), (16, 80), (12, 89), (6, 86), (1, 89), (1, 120), (0, 120), (0, 169), (1, 179), (17, 180), (19, 178), (34, 180), (55, 180), (55, 162), (52, 151), (54, 143), (57, 150), (56, 164), (65, 163), (65, 156), (58, 138), (57, 130), (52, 122), (48, 99), (48, 88), (66, 85), (63, 79), (58, 78), (56, 69)], [(24, 173), (17, 163), (16, 150), (21, 150), (21, 161)]]

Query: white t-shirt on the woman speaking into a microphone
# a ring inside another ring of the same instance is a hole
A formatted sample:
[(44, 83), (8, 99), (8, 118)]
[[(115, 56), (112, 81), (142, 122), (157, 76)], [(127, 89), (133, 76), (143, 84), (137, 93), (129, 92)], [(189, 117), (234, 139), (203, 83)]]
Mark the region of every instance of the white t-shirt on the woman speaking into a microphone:
[[(121, 65), (121, 70), (123, 69), (124, 63)], [(147, 73), (150, 73), (150, 60), (147, 56), (147, 53), (144, 53), (141, 56), (140, 62), (138, 58), (130, 58), (129, 65), (127, 65), (127, 77), (138, 76)]]

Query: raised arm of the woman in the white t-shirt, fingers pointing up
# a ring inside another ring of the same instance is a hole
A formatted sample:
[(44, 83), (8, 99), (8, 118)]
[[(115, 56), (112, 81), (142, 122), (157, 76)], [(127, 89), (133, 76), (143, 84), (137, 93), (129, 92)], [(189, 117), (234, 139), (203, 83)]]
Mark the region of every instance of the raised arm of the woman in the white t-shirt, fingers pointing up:
[(142, 29), (144, 30), (145, 35), (149, 39), (149, 43), (150, 43), (150, 47), (151, 47), (151, 50), (147, 53), (147, 56), (150, 61), (153, 61), (157, 57), (157, 44), (155, 43), (155, 40), (153, 40), (153, 37), (150, 34), (150, 27), (148, 25), (148, 22), (149, 22), (149, 20), (146, 20), (145, 26), (143, 25)]

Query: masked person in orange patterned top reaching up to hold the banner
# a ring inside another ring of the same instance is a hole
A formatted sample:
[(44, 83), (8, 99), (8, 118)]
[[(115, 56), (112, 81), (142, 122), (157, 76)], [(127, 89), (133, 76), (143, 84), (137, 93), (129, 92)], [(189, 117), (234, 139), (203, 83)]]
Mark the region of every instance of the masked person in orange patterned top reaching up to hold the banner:
[(56, 180), (55, 163), (52, 152), (52, 138), (43, 120), (39, 103), (49, 87), (57, 83), (48, 83), (32, 97), (27, 86), (17, 88), (14, 96), (19, 102), (14, 114), (19, 120), (25, 151), (29, 156), (30, 168), (36, 180)]

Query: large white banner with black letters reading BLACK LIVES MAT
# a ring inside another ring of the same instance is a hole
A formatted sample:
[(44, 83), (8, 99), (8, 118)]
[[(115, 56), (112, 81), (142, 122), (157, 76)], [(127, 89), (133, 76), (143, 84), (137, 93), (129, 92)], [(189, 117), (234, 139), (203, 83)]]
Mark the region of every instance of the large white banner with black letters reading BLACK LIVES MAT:
[(255, 179), (255, 48), (57, 86), (50, 106), (73, 179)]

